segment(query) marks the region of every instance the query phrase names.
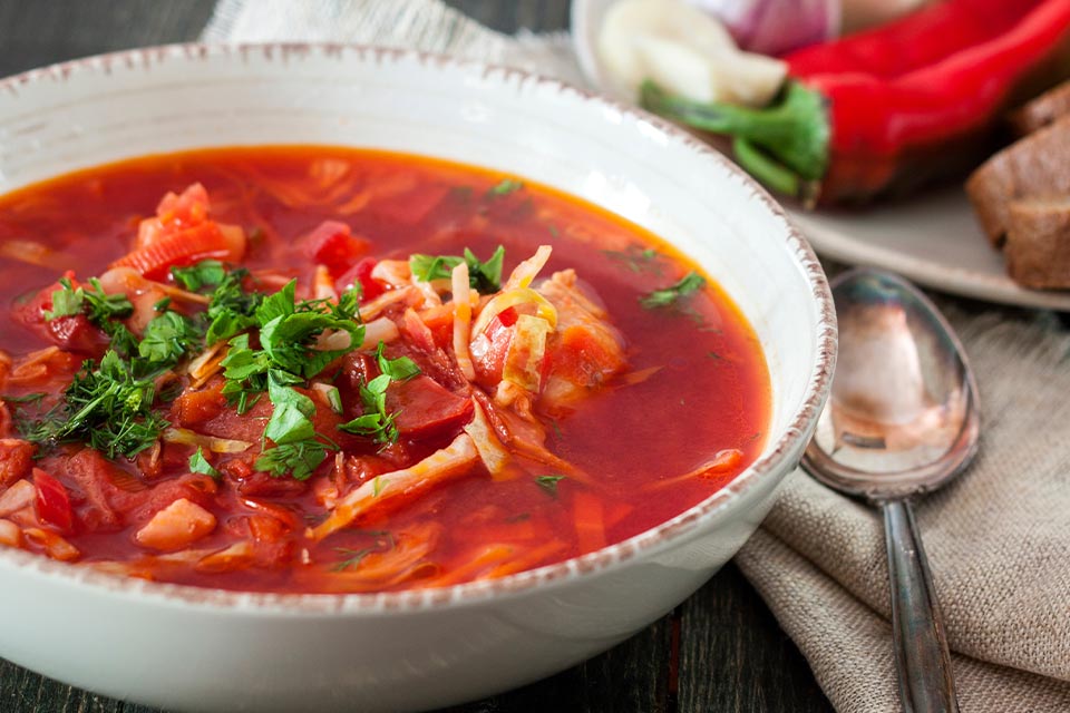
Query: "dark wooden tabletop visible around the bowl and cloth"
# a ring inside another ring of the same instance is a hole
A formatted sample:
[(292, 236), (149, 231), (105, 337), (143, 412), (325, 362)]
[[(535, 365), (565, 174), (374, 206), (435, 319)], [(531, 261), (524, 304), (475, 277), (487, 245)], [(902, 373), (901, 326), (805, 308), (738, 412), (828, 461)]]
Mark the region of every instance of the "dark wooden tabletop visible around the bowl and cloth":
[[(214, 4), (214, 0), (0, 0), (0, 76), (109, 50), (193, 40)], [(568, 26), (568, 0), (449, 0), (449, 4), (506, 32)], [(149, 710), (0, 660), (2, 713)], [(798, 649), (730, 564), (672, 614), (616, 648), (539, 683), (455, 711), (816, 713), (831, 706)]]

